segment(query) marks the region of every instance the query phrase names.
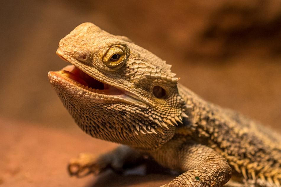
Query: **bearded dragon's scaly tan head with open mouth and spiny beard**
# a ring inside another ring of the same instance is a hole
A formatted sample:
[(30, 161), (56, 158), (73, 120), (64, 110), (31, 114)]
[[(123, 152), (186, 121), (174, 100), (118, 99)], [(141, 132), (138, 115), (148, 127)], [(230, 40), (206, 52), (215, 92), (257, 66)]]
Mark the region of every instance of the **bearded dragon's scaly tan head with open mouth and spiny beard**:
[(92, 23), (76, 27), (57, 54), (72, 65), (50, 71), (62, 103), (93, 137), (154, 150), (187, 117), (170, 65)]

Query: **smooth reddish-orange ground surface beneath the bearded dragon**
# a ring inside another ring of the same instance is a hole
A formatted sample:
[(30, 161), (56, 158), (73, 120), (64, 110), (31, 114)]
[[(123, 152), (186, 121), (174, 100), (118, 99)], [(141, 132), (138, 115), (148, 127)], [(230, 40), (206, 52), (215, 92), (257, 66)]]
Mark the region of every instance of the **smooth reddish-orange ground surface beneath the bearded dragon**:
[(81, 152), (101, 154), (117, 144), (93, 139), (78, 129), (62, 130), (0, 119), (0, 186), (160, 186), (173, 176), (119, 175), (70, 177), (67, 163)]

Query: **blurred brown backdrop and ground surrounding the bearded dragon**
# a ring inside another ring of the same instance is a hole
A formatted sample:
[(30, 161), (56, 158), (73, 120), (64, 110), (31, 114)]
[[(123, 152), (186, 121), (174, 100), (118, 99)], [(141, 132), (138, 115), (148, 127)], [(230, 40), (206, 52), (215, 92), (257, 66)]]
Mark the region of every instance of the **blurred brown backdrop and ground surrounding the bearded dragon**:
[(172, 64), (198, 95), (280, 132), (279, 0), (1, 1), (0, 12), (0, 186), (159, 186), (172, 179), (68, 177), (71, 157), (116, 146), (84, 135), (49, 86), (48, 71), (68, 65), (55, 54), (59, 40), (83, 22), (127, 36)]

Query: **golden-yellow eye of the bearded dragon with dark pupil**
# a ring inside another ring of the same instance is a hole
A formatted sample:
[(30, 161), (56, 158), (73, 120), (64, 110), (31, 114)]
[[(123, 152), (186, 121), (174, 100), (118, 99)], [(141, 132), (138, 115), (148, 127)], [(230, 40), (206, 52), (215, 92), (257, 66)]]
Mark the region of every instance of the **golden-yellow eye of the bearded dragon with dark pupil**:
[(122, 64), (125, 60), (125, 50), (121, 45), (115, 45), (109, 48), (103, 57), (103, 63), (109, 67), (114, 68)]

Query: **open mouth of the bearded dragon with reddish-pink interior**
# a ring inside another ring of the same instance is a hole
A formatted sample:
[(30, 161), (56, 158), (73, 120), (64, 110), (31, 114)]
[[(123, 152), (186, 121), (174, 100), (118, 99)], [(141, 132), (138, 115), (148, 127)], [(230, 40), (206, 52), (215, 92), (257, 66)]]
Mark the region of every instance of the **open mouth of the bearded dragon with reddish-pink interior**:
[[(84, 97), (85, 99), (90, 100), (104, 98), (111, 101), (130, 103), (131, 105), (143, 105), (142, 101), (132, 97), (127, 91), (102, 82), (80, 70), (80, 68), (77, 67), (77, 63), (68, 59), (67, 55), (63, 53), (63, 50), (58, 49), (56, 54), (64, 61), (70, 62), (73, 65), (65, 66), (60, 71), (49, 71), (48, 77), (51, 83), (59, 83), (60, 86), (68, 91), (76, 90), (76, 95), (78, 90), (80, 90), (80, 98)], [(73, 88), (74, 90), (70, 88)]]

